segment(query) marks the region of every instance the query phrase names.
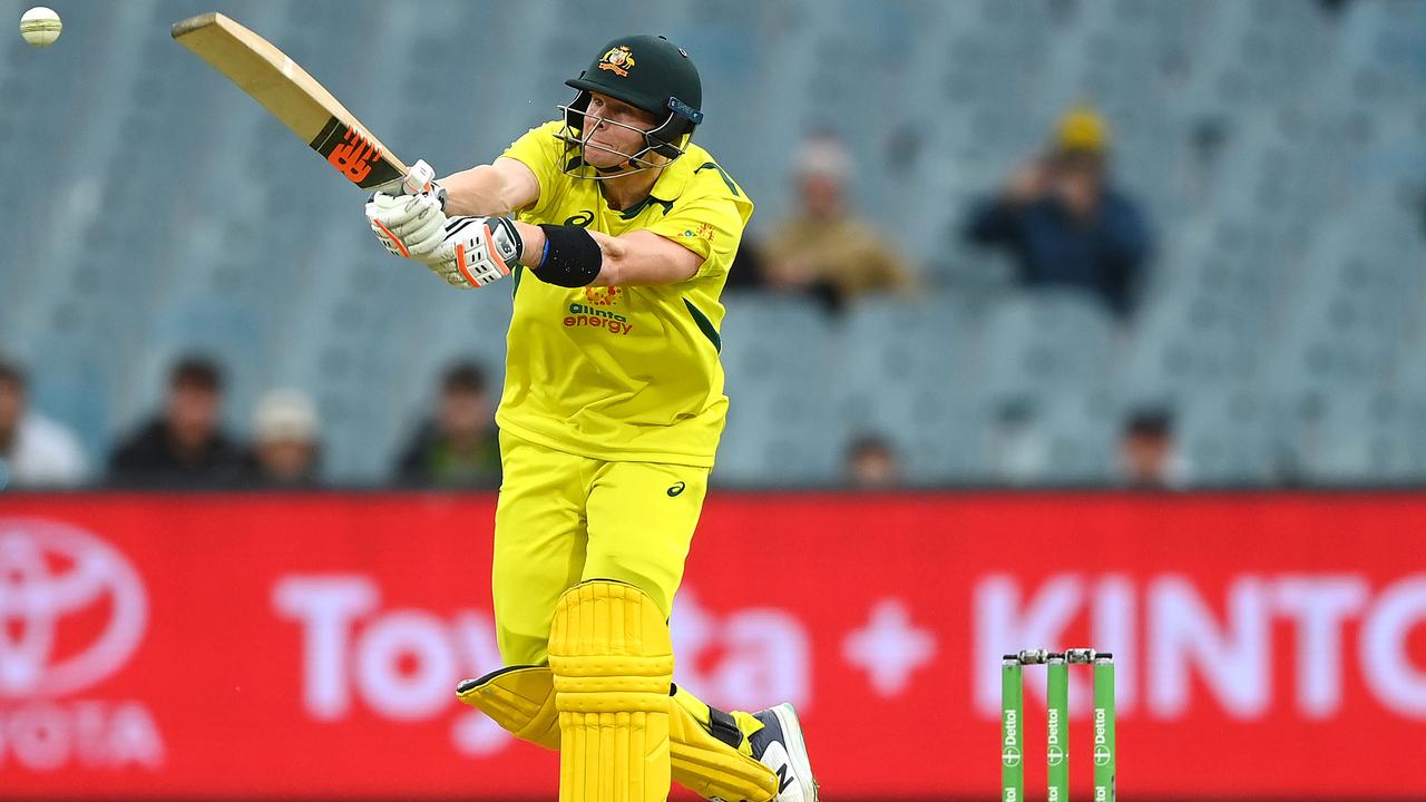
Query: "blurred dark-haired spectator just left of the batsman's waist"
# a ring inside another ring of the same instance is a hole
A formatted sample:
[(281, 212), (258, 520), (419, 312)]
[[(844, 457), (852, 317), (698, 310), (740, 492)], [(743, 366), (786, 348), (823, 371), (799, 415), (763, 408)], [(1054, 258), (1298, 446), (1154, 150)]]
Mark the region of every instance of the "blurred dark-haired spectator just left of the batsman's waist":
[(499, 487), (501, 444), (479, 367), (458, 362), (446, 370), (436, 418), (422, 424), (406, 447), (399, 475), (402, 482), (431, 487)]

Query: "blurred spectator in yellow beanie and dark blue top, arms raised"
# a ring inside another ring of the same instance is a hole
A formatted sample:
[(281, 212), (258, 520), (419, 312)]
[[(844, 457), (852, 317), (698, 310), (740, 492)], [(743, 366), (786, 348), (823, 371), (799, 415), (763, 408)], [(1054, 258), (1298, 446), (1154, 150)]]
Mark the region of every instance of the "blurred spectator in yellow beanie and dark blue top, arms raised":
[(981, 201), (965, 235), (1014, 251), (1024, 284), (1082, 287), (1128, 317), (1152, 243), (1137, 204), (1109, 184), (1108, 146), (1102, 117), (1067, 113), (1050, 151)]

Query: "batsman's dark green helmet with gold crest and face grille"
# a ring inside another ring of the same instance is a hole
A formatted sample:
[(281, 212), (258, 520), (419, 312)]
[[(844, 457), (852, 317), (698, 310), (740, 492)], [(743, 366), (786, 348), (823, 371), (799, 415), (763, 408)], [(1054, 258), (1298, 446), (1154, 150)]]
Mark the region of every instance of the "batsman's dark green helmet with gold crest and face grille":
[[(579, 90), (565, 113), (565, 130), (560, 138), (583, 146), (592, 131), (585, 131), (585, 110), (589, 108), (592, 93), (607, 94), (635, 108), (642, 108), (660, 118), (662, 123), (645, 137), (645, 148), (629, 156), (629, 163), (639, 170), (656, 167), (643, 158), (657, 153), (667, 158), (683, 154), (683, 144), (693, 136), (693, 128), (703, 121), (703, 83), (699, 70), (682, 47), (662, 36), (627, 36), (606, 44), (593, 64), (579, 73), (578, 78), (565, 81)], [(619, 124), (619, 123), (610, 123)]]

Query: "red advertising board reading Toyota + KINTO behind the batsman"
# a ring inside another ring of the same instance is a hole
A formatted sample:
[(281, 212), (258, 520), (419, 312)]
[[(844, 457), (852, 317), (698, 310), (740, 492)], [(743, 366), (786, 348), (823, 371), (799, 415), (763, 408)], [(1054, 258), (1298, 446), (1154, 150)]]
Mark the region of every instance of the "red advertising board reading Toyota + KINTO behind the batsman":
[[(452, 695), (499, 665), (492, 512), (0, 497), (0, 796), (552, 798), (555, 756)], [(830, 799), (988, 799), (1000, 655), (1089, 645), (1127, 799), (1422, 799), (1423, 522), (1420, 495), (714, 494), (677, 678), (793, 701)]]

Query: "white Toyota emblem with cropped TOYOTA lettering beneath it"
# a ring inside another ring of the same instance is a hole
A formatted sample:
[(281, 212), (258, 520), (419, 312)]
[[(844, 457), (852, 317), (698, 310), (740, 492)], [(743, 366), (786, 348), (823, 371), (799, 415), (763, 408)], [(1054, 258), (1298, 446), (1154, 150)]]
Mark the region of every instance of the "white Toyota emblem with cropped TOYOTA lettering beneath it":
[(0, 765), (157, 766), (163, 743), (135, 701), (68, 702), (120, 671), (148, 601), (124, 555), (86, 531), (0, 518)]

